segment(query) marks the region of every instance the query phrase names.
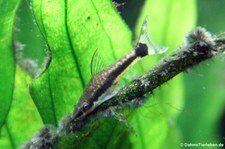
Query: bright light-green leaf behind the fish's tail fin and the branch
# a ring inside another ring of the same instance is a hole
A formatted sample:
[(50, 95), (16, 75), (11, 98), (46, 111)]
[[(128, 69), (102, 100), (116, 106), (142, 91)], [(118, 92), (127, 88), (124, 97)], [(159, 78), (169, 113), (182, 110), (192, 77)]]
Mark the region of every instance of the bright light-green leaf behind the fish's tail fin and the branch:
[[(163, 46), (168, 46), (169, 51), (167, 53), (171, 53), (182, 43), (184, 36), (194, 28), (196, 20), (195, 1), (145, 1), (137, 24), (137, 35), (142, 20), (146, 16), (149, 17), (149, 28), (153, 40)], [(176, 33), (174, 33), (175, 30)], [(144, 69), (149, 69), (149, 61), (158, 61), (158, 58), (146, 57), (142, 60)], [(176, 144), (180, 140), (175, 121), (181, 112), (177, 109), (182, 109), (183, 100), (182, 76), (173, 78), (169, 85), (163, 85), (162, 88), (155, 91), (149, 102), (141, 107), (132, 118), (132, 124), (137, 133), (136, 136), (130, 137), (134, 148), (162, 148), (165, 146), (179, 148), (179, 144)], [(176, 109), (171, 108), (170, 105)], [(170, 132), (172, 127), (174, 133)], [(165, 142), (168, 144), (165, 145)]]

